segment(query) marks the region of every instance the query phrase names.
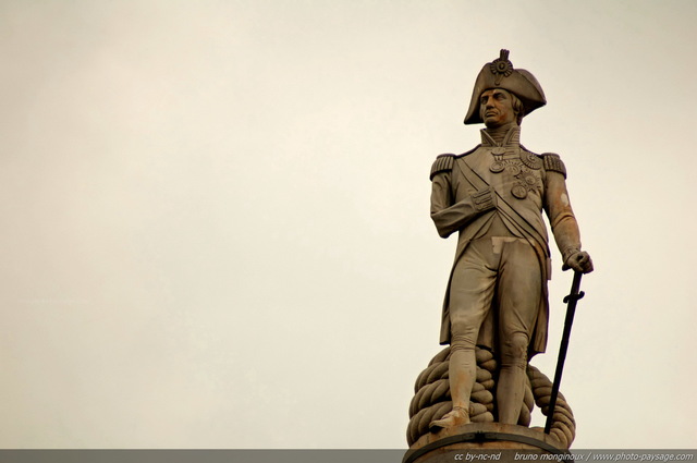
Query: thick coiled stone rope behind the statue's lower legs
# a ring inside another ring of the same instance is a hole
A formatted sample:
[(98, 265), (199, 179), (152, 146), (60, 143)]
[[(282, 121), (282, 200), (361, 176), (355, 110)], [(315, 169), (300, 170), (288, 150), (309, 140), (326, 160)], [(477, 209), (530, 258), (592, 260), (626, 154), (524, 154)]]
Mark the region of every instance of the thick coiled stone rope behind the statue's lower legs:
[[(494, 394), (498, 375), (497, 361), (486, 350), (476, 350), (477, 382), (469, 399), (469, 419), (473, 423), (491, 423), (494, 421)], [(416, 378), (415, 395), (409, 404), (409, 424), (406, 438), (409, 446), (429, 432), (428, 425), (440, 419), (452, 410), (448, 366), (450, 348), (439, 352), (428, 367)], [(542, 414), (549, 414), (552, 381), (539, 369), (528, 364), (525, 397), (521, 406), (518, 425), (529, 426), (531, 413), (537, 405)], [(568, 448), (576, 436), (576, 422), (566, 400), (559, 393), (550, 434)]]

